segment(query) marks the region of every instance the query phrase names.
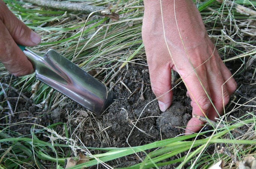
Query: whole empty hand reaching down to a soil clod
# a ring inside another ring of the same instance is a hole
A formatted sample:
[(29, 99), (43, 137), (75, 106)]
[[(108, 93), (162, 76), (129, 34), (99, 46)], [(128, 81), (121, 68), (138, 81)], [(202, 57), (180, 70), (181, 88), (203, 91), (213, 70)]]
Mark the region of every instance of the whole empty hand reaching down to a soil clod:
[(210, 41), (193, 2), (175, 1), (175, 14), (173, 0), (161, 2), (162, 15), (160, 1), (144, 0), (142, 38), (151, 87), (161, 111), (165, 111), (173, 98), (171, 69), (177, 71), (192, 100), (186, 133), (196, 132), (203, 122), (193, 114), (212, 120), (219, 117), (237, 84)]

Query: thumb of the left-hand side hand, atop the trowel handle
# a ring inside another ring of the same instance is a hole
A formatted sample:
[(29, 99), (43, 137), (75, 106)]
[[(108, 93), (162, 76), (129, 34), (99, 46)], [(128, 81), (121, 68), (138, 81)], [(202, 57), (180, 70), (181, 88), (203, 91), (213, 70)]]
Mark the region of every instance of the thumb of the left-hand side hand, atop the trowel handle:
[(4, 4), (0, 1), (0, 8), (3, 14), (0, 18), (10, 35), (17, 44), (24, 46), (36, 46), (40, 44), (41, 37), (21, 22)]

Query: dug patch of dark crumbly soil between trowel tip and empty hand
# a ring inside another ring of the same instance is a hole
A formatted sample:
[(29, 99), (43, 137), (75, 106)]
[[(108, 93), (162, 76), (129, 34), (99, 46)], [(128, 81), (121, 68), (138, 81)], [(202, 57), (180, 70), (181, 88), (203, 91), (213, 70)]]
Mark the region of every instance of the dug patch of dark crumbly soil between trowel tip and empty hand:
[[(103, 115), (104, 125), (106, 127), (111, 126), (107, 133), (114, 136), (113, 139), (119, 140), (118, 142), (115, 141), (113, 146), (128, 146), (126, 139), (138, 118), (140, 120), (138, 120), (136, 127), (142, 131), (134, 128), (128, 139), (131, 146), (143, 145), (159, 140), (161, 137), (163, 139), (170, 138), (183, 133), (183, 130), (175, 127), (186, 126), (188, 119), (191, 118), (186, 105), (174, 102), (168, 111), (162, 113), (159, 110), (158, 102), (153, 101), (155, 95), (150, 89), (147, 67), (132, 67), (125, 73), (127, 79), (123, 83), (132, 94), (119, 83), (113, 88), (113, 91), (118, 94), (118, 99)], [(120, 74), (120, 77), (124, 77), (124, 75)], [(143, 89), (143, 92), (141, 92), (141, 89)], [(134, 91), (137, 92), (134, 93)]]

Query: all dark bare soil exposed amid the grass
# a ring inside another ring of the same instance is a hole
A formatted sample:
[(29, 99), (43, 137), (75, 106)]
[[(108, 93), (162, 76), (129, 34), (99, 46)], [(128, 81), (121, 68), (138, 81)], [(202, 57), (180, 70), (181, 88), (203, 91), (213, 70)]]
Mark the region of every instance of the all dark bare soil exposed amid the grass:
[[(240, 64), (238, 65), (240, 66)], [(232, 73), (239, 67), (234, 66), (234, 63), (228, 63), (227, 66)], [(238, 90), (231, 96), (231, 100), (236, 96), (237, 101), (238, 98), (244, 96), (245, 98), (240, 100), (240, 103), (244, 103), (246, 98), (255, 97), (256, 89), (253, 85), (250, 85), (253, 71), (253, 68), (248, 68), (235, 76)], [(120, 79), (122, 79), (122, 82)], [(174, 81), (177, 79), (179, 79), (179, 75), (175, 73)], [(8, 78), (2, 79), (1, 82), (9, 83)], [(43, 111), (42, 108), (22, 98), (19, 99), (16, 105), (17, 100), (15, 98), (19, 95), (9, 89), (7, 92), (8, 100), (12, 108), (16, 106), (16, 112), (19, 112), (11, 118), (11, 123), (22, 122), (22, 125), (13, 125), (10, 129), (29, 137), (32, 124), (28, 123), (36, 123), (47, 127), (57, 122), (65, 122), (68, 128), (71, 128), (72, 133), (79, 135), (80, 140), (87, 147), (139, 146), (184, 133), (183, 128), (191, 118), (192, 108), (183, 84), (174, 89), (171, 107), (167, 111), (161, 112), (158, 102), (154, 100), (155, 95), (150, 87), (149, 73), (146, 66), (131, 64), (128, 69), (121, 71), (113, 79), (113, 82), (116, 82), (116, 85), (112, 89), (118, 97), (101, 116), (91, 114), (74, 102), (68, 103), (70, 102), (68, 99), (66, 99), (67, 104), (52, 111)], [(24, 95), (29, 98), (31, 94), (24, 93)], [(3, 95), (1, 95), (0, 101), (5, 101)], [(235, 117), (240, 117), (242, 114), (243, 111), (232, 113)], [(1, 117), (3, 117), (3, 114)], [(139, 120), (137, 121), (137, 119)], [(24, 124), (24, 120), (27, 124)], [(9, 121), (1, 118), (0, 122), (6, 124)], [(135, 124), (136, 128), (132, 130)], [(55, 130), (62, 131), (63, 128), (56, 125)], [(38, 137), (45, 141), (49, 139), (43, 135)], [(111, 165), (113, 167), (130, 166), (137, 160), (135, 157), (127, 157), (118, 161), (111, 162)], [(122, 165), (120, 165), (120, 162)], [(173, 167), (173, 165), (170, 165), (162, 168)]]

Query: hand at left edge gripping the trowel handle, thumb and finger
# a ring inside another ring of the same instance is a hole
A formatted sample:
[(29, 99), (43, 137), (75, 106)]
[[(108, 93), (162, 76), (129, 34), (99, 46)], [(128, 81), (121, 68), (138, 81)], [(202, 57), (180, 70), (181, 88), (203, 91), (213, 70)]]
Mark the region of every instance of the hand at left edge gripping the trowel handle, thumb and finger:
[(21, 22), (0, 0), (0, 62), (15, 76), (33, 73), (34, 69), (17, 46), (36, 46), (41, 38)]

